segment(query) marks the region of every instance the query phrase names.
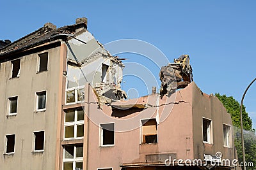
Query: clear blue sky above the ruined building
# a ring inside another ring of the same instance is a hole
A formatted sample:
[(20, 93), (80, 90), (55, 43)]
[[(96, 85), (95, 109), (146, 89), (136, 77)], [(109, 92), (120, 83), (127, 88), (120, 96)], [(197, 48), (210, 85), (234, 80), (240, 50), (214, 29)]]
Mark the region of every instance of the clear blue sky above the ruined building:
[[(255, 6), (256, 1), (2, 1), (0, 39), (14, 41), (46, 22), (61, 27), (87, 17), (88, 30), (103, 44), (141, 39), (170, 61), (189, 54), (194, 80), (203, 92), (241, 101), (256, 77)], [(138, 55), (123, 55), (145, 63)], [(244, 105), (256, 129), (255, 91), (256, 83)]]

